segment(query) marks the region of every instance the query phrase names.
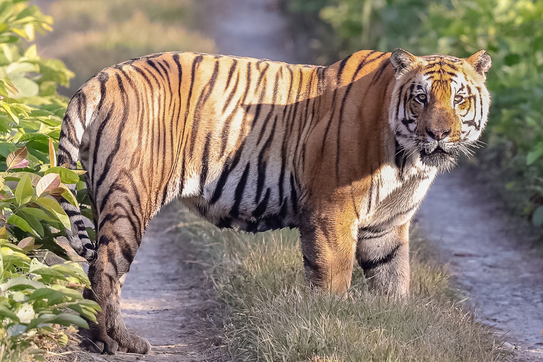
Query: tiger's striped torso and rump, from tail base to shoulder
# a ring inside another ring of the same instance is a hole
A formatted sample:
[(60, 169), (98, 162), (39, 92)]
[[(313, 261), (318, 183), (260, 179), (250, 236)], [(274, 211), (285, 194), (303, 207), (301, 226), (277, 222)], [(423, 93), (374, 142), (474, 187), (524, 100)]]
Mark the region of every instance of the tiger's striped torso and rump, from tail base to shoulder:
[(118, 204), (125, 184), (151, 216), (179, 196), (220, 227), (295, 226), (324, 70), (195, 53), (104, 69), (72, 100), (97, 99), (79, 155), (97, 208)]

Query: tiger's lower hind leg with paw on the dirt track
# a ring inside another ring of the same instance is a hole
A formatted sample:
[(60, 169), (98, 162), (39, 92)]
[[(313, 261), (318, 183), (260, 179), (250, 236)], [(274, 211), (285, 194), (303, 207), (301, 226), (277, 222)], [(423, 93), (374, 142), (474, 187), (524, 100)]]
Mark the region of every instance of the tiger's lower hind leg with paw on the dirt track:
[(117, 350), (146, 354), (150, 351), (147, 340), (128, 332), (121, 315), (121, 288), (134, 260), (143, 236), (143, 218), (130, 208), (115, 202), (99, 215), (98, 252), (96, 261), (89, 268), (92, 291), (87, 292), (102, 312), (97, 323), (91, 324), (91, 337), (86, 345), (96, 352), (103, 344), (103, 353), (115, 354)]

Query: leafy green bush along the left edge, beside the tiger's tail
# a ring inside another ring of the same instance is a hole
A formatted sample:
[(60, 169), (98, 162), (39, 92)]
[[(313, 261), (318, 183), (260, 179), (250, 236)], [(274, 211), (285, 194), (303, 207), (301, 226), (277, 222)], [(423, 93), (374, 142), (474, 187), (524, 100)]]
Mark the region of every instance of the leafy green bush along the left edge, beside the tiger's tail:
[[(42, 360), (66, 345), (73, 325), (88, 328), (98, 304), (79, 291), (90, 283), (67, 259), (56, 238), (70, 220), (60, 198), (85, 197), (83, 172), (56, 165), (67, 99), (57, 87), (73, 73), (56, 59), (42, 58), (35, 32), (53, 20), (21, 0), (0, 1), (0, 360)], [(67, 184), (78, 183), (78, 195)], [(51, 253), (52, 252), (52, 253)], [(60, 256), (52, 264), (52, 255)], [(67, 313), (71, 309), (72, 313)], [(75, 314), (73, 314), (75, 312)]]

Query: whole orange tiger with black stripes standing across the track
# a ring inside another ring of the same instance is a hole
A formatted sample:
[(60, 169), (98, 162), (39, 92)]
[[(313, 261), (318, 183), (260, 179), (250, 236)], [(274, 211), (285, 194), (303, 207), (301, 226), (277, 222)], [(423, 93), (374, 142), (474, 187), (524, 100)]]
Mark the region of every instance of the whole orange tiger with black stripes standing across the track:
[[(157, 53), (105, 68), (71, 99), (58, 164), (85, 173), (96, 240), (63, 200), (102, 311), (93, 352), (148, 353), (121, 288), (149, 221), (180, 200), (219, 228), (300, 231), (308, 285), (345, 295), (353, 264), (407, 296), (409, 225), (435, 176), (488, 120), (490, 56), (362, 50), (331, 66)], [(75, 186), (71, 186), (73, 191)]]

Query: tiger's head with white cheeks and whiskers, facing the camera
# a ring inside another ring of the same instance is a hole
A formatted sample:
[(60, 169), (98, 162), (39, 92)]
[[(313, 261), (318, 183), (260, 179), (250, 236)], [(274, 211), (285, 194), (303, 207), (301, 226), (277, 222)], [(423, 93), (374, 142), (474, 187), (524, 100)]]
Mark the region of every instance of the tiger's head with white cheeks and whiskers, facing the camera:
[(485, 50), (459, 59), (396, 49), (390, 62), (396, 83), (389, 122), (397, 143), (427, 165), (451, 168), (461, 152), (471, 153), (487, 123), (490, 56)]

